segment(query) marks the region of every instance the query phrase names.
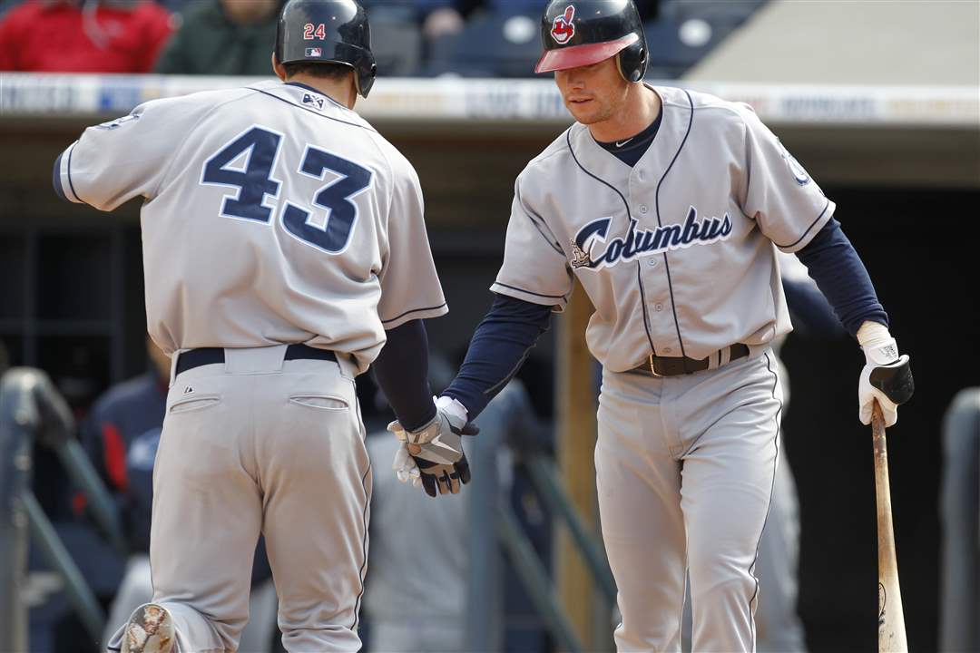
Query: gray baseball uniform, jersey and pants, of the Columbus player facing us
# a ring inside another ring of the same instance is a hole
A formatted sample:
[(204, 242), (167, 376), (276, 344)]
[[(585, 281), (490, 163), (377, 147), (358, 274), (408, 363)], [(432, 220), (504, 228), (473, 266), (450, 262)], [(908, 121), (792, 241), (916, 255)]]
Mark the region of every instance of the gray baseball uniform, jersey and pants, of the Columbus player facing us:
[[(574, 275), (596, 307), (587, 340), (604, 365), (595, 455), (619, 649), (679, 647), (690, 565), (693, 649), (753, 650), (779, 457), (769, 343), (791, 328), (775, 248), (805, 247), (834, 204), (748, 106), (654, 90), (662, 124), (635, 165), (576, 123), (520, 173), (492, 290), (561, 310)], [(644, 374), (651, 354), (708, 369)]]

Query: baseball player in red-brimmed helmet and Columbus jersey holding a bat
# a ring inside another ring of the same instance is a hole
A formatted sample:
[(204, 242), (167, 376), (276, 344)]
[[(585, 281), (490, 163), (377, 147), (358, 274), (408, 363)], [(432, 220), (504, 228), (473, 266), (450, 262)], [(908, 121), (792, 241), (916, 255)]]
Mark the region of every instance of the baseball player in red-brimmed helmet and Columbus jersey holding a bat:
[[(595, 451), (622, 651), (678, 650), (690, 569), (696, 651), (751, 651), (754, 571), (782, 391), (770, 351), (790, 328), (776, 250), (796, 254), (857, 337), (858, 414), (890, 426), (911, 394), (858, 255), (800, 163), (752, 109), (642, 82), (631, 0), (553, 0), (536, 71), (576, 122), (518, 175), (489, 314), (439, 398), (474, 419), (519, 367), (573, 280), (595, 306)], [(396, 460), (403, 477), (412, 459)]]

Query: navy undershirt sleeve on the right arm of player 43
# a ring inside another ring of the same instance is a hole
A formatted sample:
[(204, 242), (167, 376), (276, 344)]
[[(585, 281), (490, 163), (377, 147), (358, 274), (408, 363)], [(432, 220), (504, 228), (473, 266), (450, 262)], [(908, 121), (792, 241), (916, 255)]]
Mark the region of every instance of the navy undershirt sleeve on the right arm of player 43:
[(428, 336), (421, 320), (387, 331), (388, 342), (374, 359), (374, 378), (395, 416), (408, 431), (435, 417), (428, 383)]

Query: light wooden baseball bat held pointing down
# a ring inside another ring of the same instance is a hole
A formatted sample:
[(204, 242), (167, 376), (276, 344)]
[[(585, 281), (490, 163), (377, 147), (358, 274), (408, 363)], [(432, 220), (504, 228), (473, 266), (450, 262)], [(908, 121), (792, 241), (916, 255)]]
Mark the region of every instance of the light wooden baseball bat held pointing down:
[(878, 505), (878, 653), (907, 653), (906, 615), (902, 610), (892, 527), (885, 418), (877, 400), (871, 414), (871, 433), (874, 437), (874, 493)]

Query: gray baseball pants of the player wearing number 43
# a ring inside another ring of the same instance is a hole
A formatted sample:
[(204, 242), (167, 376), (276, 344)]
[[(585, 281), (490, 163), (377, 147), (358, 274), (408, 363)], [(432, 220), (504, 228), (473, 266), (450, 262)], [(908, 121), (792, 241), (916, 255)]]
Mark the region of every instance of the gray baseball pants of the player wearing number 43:
[(284, 354), (225, 350), (172, 381), (150, 566), (179, 653), (236, 650), (260, 532), (286, 649), (361, 648), (371, 475), (354, 381), (336, 362)]

